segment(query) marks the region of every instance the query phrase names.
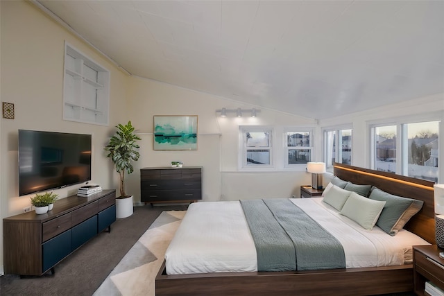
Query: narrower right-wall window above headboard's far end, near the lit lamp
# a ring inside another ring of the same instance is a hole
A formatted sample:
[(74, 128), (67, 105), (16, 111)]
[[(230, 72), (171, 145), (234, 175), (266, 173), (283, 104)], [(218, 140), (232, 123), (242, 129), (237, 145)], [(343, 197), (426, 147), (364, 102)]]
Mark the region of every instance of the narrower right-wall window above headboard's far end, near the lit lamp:
[[(333, 163), (352, 164), (352, 129), (324, 130), (324, 161), (327, 171), (333, 171)], [(341, 146), (336, 147), (336, 143)]]

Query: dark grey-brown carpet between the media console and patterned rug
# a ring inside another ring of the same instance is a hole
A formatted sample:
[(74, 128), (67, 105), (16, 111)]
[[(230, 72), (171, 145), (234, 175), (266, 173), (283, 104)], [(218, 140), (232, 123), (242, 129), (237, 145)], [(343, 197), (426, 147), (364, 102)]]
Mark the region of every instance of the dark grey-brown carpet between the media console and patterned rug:
[(186, 210), (187, 205), (134, 207), (134, 214), (117, 219), (42, 277), (3, 275), (0, 295), (92, 295), (162, 211)]

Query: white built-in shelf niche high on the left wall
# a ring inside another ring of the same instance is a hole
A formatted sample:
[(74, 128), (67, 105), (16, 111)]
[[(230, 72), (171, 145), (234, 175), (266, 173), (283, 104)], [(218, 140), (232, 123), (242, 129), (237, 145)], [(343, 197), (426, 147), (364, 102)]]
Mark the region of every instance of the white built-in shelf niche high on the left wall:
[(108, 125), (110, 71), (65, 42), (63, 119)]

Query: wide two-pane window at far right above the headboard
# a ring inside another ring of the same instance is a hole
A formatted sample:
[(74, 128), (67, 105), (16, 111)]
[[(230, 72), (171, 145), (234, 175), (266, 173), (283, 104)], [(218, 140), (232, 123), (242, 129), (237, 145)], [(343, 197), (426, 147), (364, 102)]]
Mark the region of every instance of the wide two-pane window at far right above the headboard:
[(371, 126), (373, 168), (438, 182), (439, 123)]

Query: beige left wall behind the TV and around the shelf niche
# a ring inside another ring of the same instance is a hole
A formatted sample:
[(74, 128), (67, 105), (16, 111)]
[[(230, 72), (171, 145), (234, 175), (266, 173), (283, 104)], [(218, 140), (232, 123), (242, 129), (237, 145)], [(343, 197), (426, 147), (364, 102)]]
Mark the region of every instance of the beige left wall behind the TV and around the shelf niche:
[[(18, 196), (17, 130), (50, 130), (92, 134), (92, 182), (117, 188), (117, 174), (103, 153), (113, 126), (128, 120), (128, 77), (65, 28), (24, 1), (0, 1), (1, 101), (15, 104), (15, 119), (1, 119), (1, 218), (20, 214), (29, 196)], [(26, 21), (25, 21), (26, 20)], [(65, 40), (111, 72), (110, 125), (62, 120)], [(78, 186), (56, 190), (60, 198), (76, 193)], [(0, 227), (0, 272), (3, 272), (3, 227)]]

